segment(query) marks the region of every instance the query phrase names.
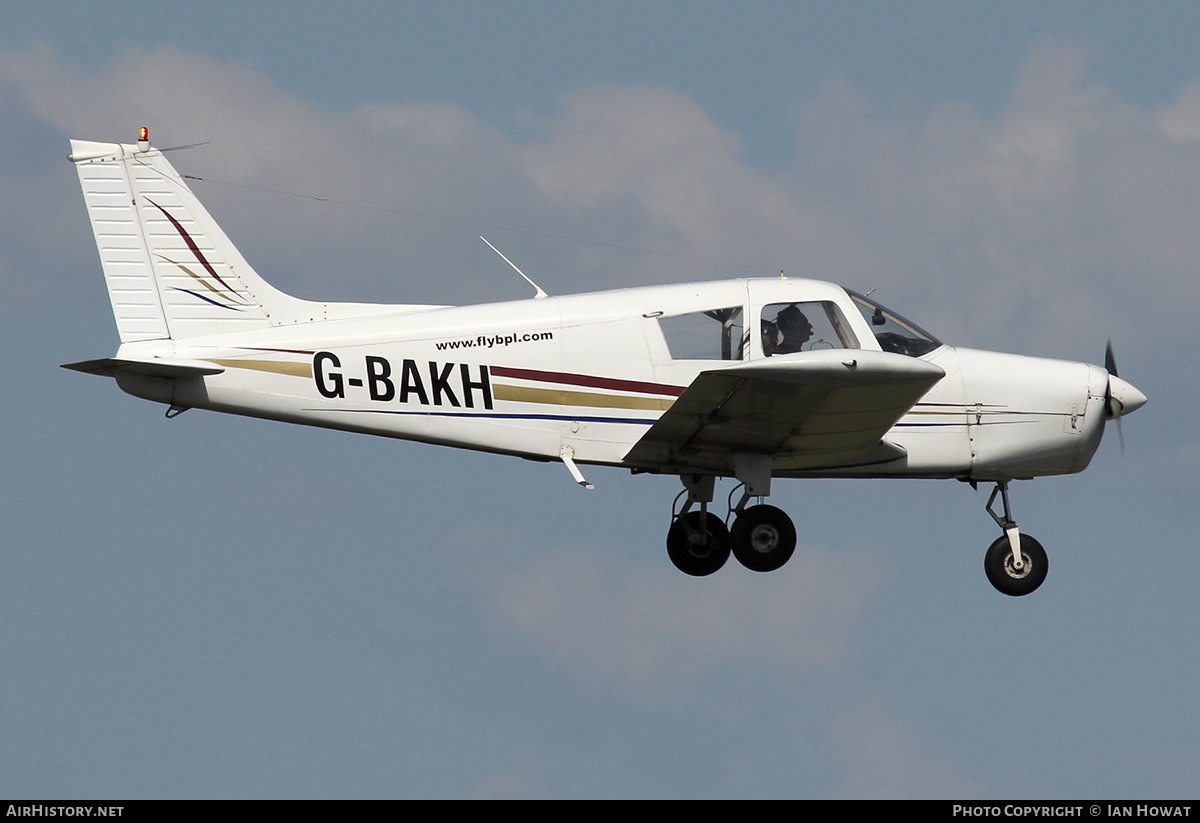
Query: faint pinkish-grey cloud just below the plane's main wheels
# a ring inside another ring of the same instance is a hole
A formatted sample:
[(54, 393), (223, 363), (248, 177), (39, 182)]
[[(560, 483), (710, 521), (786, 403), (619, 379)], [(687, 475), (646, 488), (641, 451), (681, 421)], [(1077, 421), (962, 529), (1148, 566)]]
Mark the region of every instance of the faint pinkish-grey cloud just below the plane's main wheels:
[(659, 702), (698, 697), (730, 665), (838, 668), (878, 569), (877, 558), (802, 546), (769, 576), (731, 567), (694, 579), (564, 549), (498, 576), (493, 593), (499, 614), (554, 665)]

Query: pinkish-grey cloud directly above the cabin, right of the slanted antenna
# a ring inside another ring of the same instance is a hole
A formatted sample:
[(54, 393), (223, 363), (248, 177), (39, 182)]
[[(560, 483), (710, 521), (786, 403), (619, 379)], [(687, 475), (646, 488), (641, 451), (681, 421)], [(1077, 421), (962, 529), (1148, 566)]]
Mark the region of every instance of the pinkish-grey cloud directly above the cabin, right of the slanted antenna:
[(822, 222), (742, 155), (737, 136), (678, 92), (596, 86), (570, 95), (523, 157), (539, 190), (581, 220), (632, 211), (642, 245), (769, 276), (790, 268), (781, 248), (803, 247)]

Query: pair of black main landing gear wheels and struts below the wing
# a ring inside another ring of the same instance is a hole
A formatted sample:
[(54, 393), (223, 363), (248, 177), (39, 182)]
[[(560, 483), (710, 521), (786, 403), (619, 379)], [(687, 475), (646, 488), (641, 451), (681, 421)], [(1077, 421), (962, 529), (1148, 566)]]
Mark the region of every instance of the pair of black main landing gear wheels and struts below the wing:
[[(671, 529), (667, 531), (667, 554), (676, 567), (685, 575), (703, 577), (725, 565), (730, 554), (751, 571), (775, 571), (787, 563), (796, 551), (796, 527), (792, 518), (775, 506), (758, 504), (746, 507), (752, 497), (766, 497), (762, 482), (743, 480), (744, 489), (737, 505), (732, 505), (734, 488), (730, 494), (730, 515), (734, 516), (728, 529), (716, 515), (708, 511), (713, 501), (715, 479), (702, 475), (683, 475), (684, 491), (676, 498)], [(739, 479), (742, 475), (739, 474)], [(760, 480), (755, 476), (752, 480)], [(679, 500), (686, 495), (683, 507)], [(700, 504), (700, 510), (692, 509)]]

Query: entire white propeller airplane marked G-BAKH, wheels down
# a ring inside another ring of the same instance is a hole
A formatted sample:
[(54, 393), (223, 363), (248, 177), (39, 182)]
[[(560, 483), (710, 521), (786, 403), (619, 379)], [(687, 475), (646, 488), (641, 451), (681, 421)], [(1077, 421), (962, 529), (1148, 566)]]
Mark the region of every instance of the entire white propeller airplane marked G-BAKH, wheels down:
[[(1105, 368), (959, 349), (811, 280), (534, 284), (481, 306), (299, 300), (250, 268), (145, 130), (72, 140), (71, 160), (121, 346), (66, 368), (168, 417), (211, 409), (562, 462), (588, 488), (581, 464), (674, 474), (667, 552), (689, 575), (731, 551), (755, 571), (788, 560), (796, 528), (762, 503), (775, 477), (942, 477), (995, 483), (985, 509), (1003, 534), (984, 567), (1028, 594), (1046, 554), (1018, 529), (1009, 481), (1081, 471), (1105, 421), (1146, 402), (1111, 348)], [(709, 504), (730, 476), (722, 519)]]

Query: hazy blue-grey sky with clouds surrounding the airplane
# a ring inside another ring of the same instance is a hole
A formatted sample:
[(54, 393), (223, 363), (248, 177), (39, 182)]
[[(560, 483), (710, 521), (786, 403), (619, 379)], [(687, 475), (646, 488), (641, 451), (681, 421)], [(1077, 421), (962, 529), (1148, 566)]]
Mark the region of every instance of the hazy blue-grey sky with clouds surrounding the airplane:
[[(0, 794), (1194, 797), (1196, 7), (577, 6), (0, 11)], [(67, 139), (140, 125), (300, 296), (786, 269), (1150, 403), (1014, 485), (1030, 597), (955, 482), (776, 483), (791, 564), (685, 578), (671, 477), (58, 368), (118, 343)]]

